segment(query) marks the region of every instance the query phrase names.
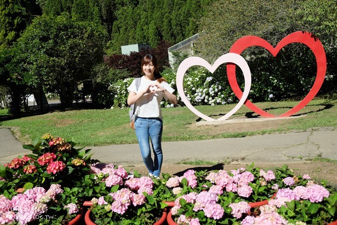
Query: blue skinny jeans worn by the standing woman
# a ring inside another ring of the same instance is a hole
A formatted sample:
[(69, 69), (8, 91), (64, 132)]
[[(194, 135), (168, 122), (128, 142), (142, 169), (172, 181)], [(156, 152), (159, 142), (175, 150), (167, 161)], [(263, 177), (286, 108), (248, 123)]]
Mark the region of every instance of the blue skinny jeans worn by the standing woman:
[[(159, 118), (137, 117), (135, 131), (143, 161), (150, 174), (159, 176), (163, 163), (162, 133), (163, 121)], [(151, 157), (150, 140), (154, 153)]]

